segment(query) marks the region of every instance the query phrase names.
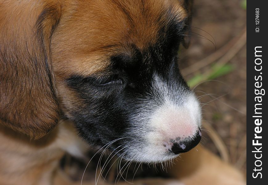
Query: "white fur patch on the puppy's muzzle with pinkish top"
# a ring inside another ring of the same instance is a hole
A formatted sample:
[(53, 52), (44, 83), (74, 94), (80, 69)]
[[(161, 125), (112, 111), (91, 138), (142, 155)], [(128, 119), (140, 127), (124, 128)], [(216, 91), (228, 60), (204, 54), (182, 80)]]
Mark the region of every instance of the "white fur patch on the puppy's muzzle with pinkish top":
[(201, 108), (192, 91), (156, 75), (152, 84), (152, 97), (144, 99), (144, 108), (132, 117), (135, 131), (129, 134), (143, 138), (143, 142), (130, 144), (128, 155), (134, 157), (128, 160), (150, 163), (175, 158), (171, 142), (192, 138), (201, 126)]

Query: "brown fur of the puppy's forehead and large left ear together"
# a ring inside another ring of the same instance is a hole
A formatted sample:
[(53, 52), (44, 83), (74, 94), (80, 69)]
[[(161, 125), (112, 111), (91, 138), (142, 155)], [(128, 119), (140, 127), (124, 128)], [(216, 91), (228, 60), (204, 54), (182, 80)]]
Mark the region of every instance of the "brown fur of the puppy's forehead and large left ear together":
[(112, 53), (156, 42), (163, 12), (187, 17), (175, 0), (2, 1), (0, 10), (1, 123), (35, 139), (57, 125), (57, 91), (75, 101), (65, 79), (103, 72)]

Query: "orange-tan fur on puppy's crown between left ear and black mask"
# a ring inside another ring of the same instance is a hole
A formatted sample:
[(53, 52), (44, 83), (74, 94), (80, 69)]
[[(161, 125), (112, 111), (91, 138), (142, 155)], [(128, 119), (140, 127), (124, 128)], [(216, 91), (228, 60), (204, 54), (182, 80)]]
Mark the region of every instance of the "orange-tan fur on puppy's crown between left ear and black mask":
[(159, 22), (165, 19), (159, 13), (169, 7), (178, 12), (178, 20), (186, 17), (185, 10), (176, 1), (152, 0), (143, 4), (133, 0), (91, 0), (68, 3), (51, 42), (56, 75), (59, 78), (72, 74), (88, 76), (102, 71), (112, 54), (128, 52), (128, 45), (143, 48), (154, 43), (161, 26)]

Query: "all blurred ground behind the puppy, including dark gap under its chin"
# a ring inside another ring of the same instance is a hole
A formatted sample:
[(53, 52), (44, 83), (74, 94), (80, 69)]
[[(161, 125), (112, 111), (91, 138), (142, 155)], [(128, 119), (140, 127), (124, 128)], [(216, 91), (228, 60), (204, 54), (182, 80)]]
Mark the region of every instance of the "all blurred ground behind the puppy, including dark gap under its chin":
[[(201, 145), (246, 175), (246, 0), (194, 0), (192, 27), (185, 35), (190, 45), (181, 47), (179, 65), (203, 109)], [(63, 170), (81, 180), (94, 154), (84, 161), (66, 155)], [(105, 155), (97, 154), (83, 180), (95, 179), (105, 161)], [(118, 175), (119, 161), (108, 163), (102, 172), (108, 182), (120, 176), (132, 180), (134, 172), (135, 178), (168, 175), (161, 166), (135, 164)]]

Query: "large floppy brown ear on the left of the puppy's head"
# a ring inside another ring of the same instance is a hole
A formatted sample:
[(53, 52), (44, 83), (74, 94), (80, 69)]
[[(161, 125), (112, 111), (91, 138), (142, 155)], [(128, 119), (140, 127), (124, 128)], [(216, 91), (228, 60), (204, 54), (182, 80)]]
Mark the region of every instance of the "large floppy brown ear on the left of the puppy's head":
[(38, 139), (60, 116), (50, 42), (61, 7), (8, 1), (0, 12), (0, 123)]

